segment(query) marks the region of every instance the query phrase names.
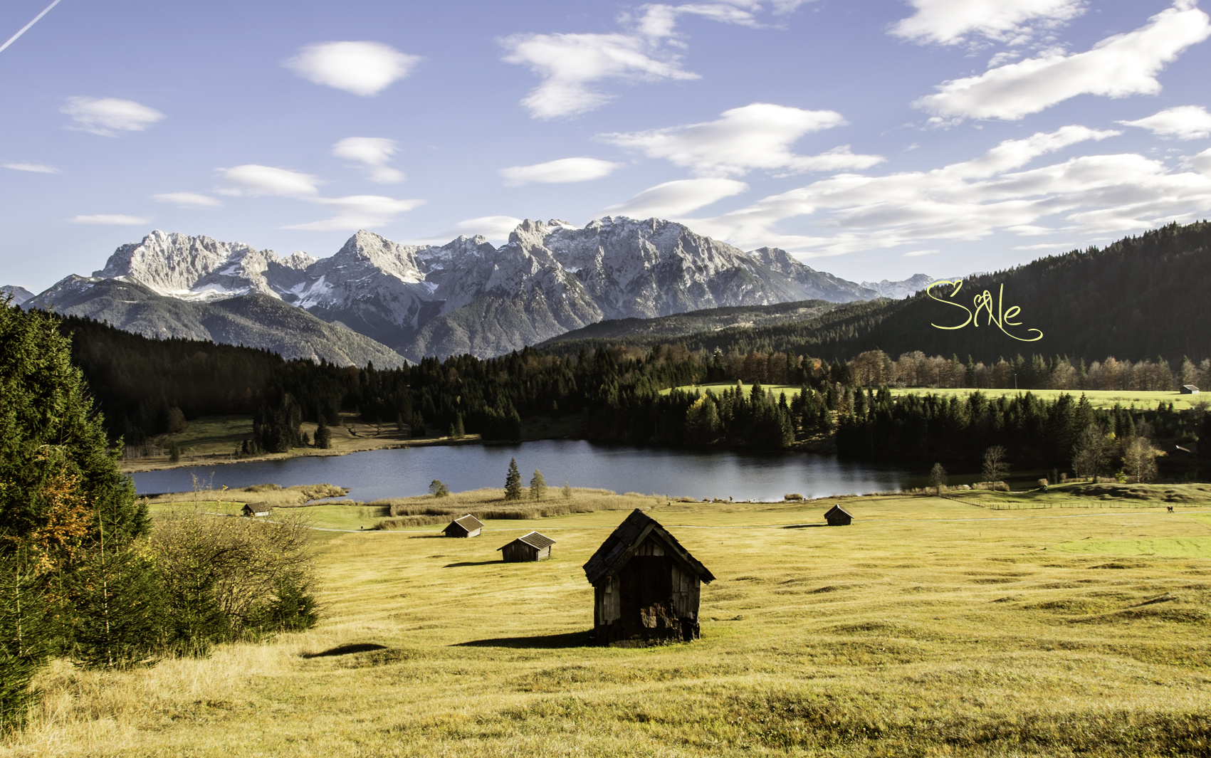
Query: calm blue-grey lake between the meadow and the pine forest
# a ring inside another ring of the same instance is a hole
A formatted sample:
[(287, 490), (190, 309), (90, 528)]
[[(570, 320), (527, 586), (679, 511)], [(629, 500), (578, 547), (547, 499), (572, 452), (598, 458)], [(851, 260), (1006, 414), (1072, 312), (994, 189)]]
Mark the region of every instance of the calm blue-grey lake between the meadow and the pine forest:
[(526, 482), (538, 469), (549, 487), (569, 482), (573, 487), (599, 487), (618, 493), (698, 499), (781, 500), (786, 493), (823, 498), (886, 492), (899, 489), (908, 476), (896, 469), (840, 461), (834, 455), (659, 450), (582, 440), (367, 450), (133, 476), (139, 494), (190, 490), (196, 475), (203, 486), (214, 489), (224, 484), (236, 488), (271, 482), (291, 487), (326, 482), (349, 487), (350, 498), (369, 501), (426, 494), (432, 480), (446, 482), (454, 492), (504, 487), (510, 458), (517, 459)]

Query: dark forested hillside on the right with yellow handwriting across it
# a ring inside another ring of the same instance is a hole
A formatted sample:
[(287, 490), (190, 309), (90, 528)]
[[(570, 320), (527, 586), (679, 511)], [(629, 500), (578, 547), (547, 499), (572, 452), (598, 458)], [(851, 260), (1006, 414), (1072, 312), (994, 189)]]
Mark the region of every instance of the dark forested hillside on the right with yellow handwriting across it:
[[(1164, 357), (1194, 362), (1211, 357), (1211, 224), (1170, 224), (1138, 237), (1127, 237), (1104, 248), (1049, 255), (995, 274), (963, 281), (953, 303), (977, 311), (972, 298), (988, 292), (997, 320), (1008, 317), (1017, 326), (1005, 329), (988, 322), (987, 311), (958, 329), (965, 314), (947, 303), (918, 293), (905, 300), (876, 300), (842, 306), (802, 322), (737, 327), (700, 332), (681, 338), (690, 350), (724, 352), (759, 351), (813, 355), (848, 361), (855, 355), (882, 349), (896, 356), (968, 356), (993, 363), (1020, 352), (1101, 361), (1107, 356), (1140, 361)], [(1001, 292), (1004, 293), (1001, 300)], [(946, 298), (949, 288), (936, 289)], [(975, 326), (978, 323), (978, 326)], [(561, 341), (552, 349), (575, 352), (618, 344), (650, 346), (666, 341), (659, 335)]]

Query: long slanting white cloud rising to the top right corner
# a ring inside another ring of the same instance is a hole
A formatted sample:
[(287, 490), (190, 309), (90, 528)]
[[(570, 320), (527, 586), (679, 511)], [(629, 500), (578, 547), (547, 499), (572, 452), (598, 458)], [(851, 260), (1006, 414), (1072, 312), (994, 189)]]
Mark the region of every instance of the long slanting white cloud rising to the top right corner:
[(1078, 94), (1127, 97), (1160, 92), (1157, 74), (1183, 50), (1211, 35), (1207, 15), (1177, 0), (1135, 31), (1109, 36), (1091, 50), (1060, 50), (939, 86), (914, 107), (945, 119), (1016, 121)]

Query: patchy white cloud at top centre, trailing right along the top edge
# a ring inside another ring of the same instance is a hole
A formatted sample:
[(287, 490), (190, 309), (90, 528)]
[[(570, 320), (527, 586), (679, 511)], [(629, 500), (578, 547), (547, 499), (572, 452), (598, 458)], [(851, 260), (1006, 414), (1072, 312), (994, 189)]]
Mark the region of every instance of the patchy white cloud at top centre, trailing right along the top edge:
[[(774, 0), (775, 13), (787, 13), (802, 0)], [(639, 17), (624, 15), (626, 31), (613, 34), (513, 34), (500, 40), (504, 61), (530, 69), (543, 82), (522, 101), (535, 119), (576, 116), (601, 108), (614, 96), (601, 82), (693, 80), (698, 74), (681, 68), (676, 52), (685, 47), (676, 39), (677, 19), (699, 16), (728, 24), (762, 25), (754, 0), (641, 6)]]

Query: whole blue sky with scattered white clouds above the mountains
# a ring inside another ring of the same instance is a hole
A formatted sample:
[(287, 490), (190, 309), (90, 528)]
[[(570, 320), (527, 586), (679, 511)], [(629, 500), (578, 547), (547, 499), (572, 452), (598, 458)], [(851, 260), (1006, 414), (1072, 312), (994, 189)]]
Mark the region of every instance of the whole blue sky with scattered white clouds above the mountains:
[(1209, 35), (1190, 0), (62, 0), (0, 51), (0, 283), (151, 229), (322, 257), (604, 214), (1001, 269), (1211, 216)]

